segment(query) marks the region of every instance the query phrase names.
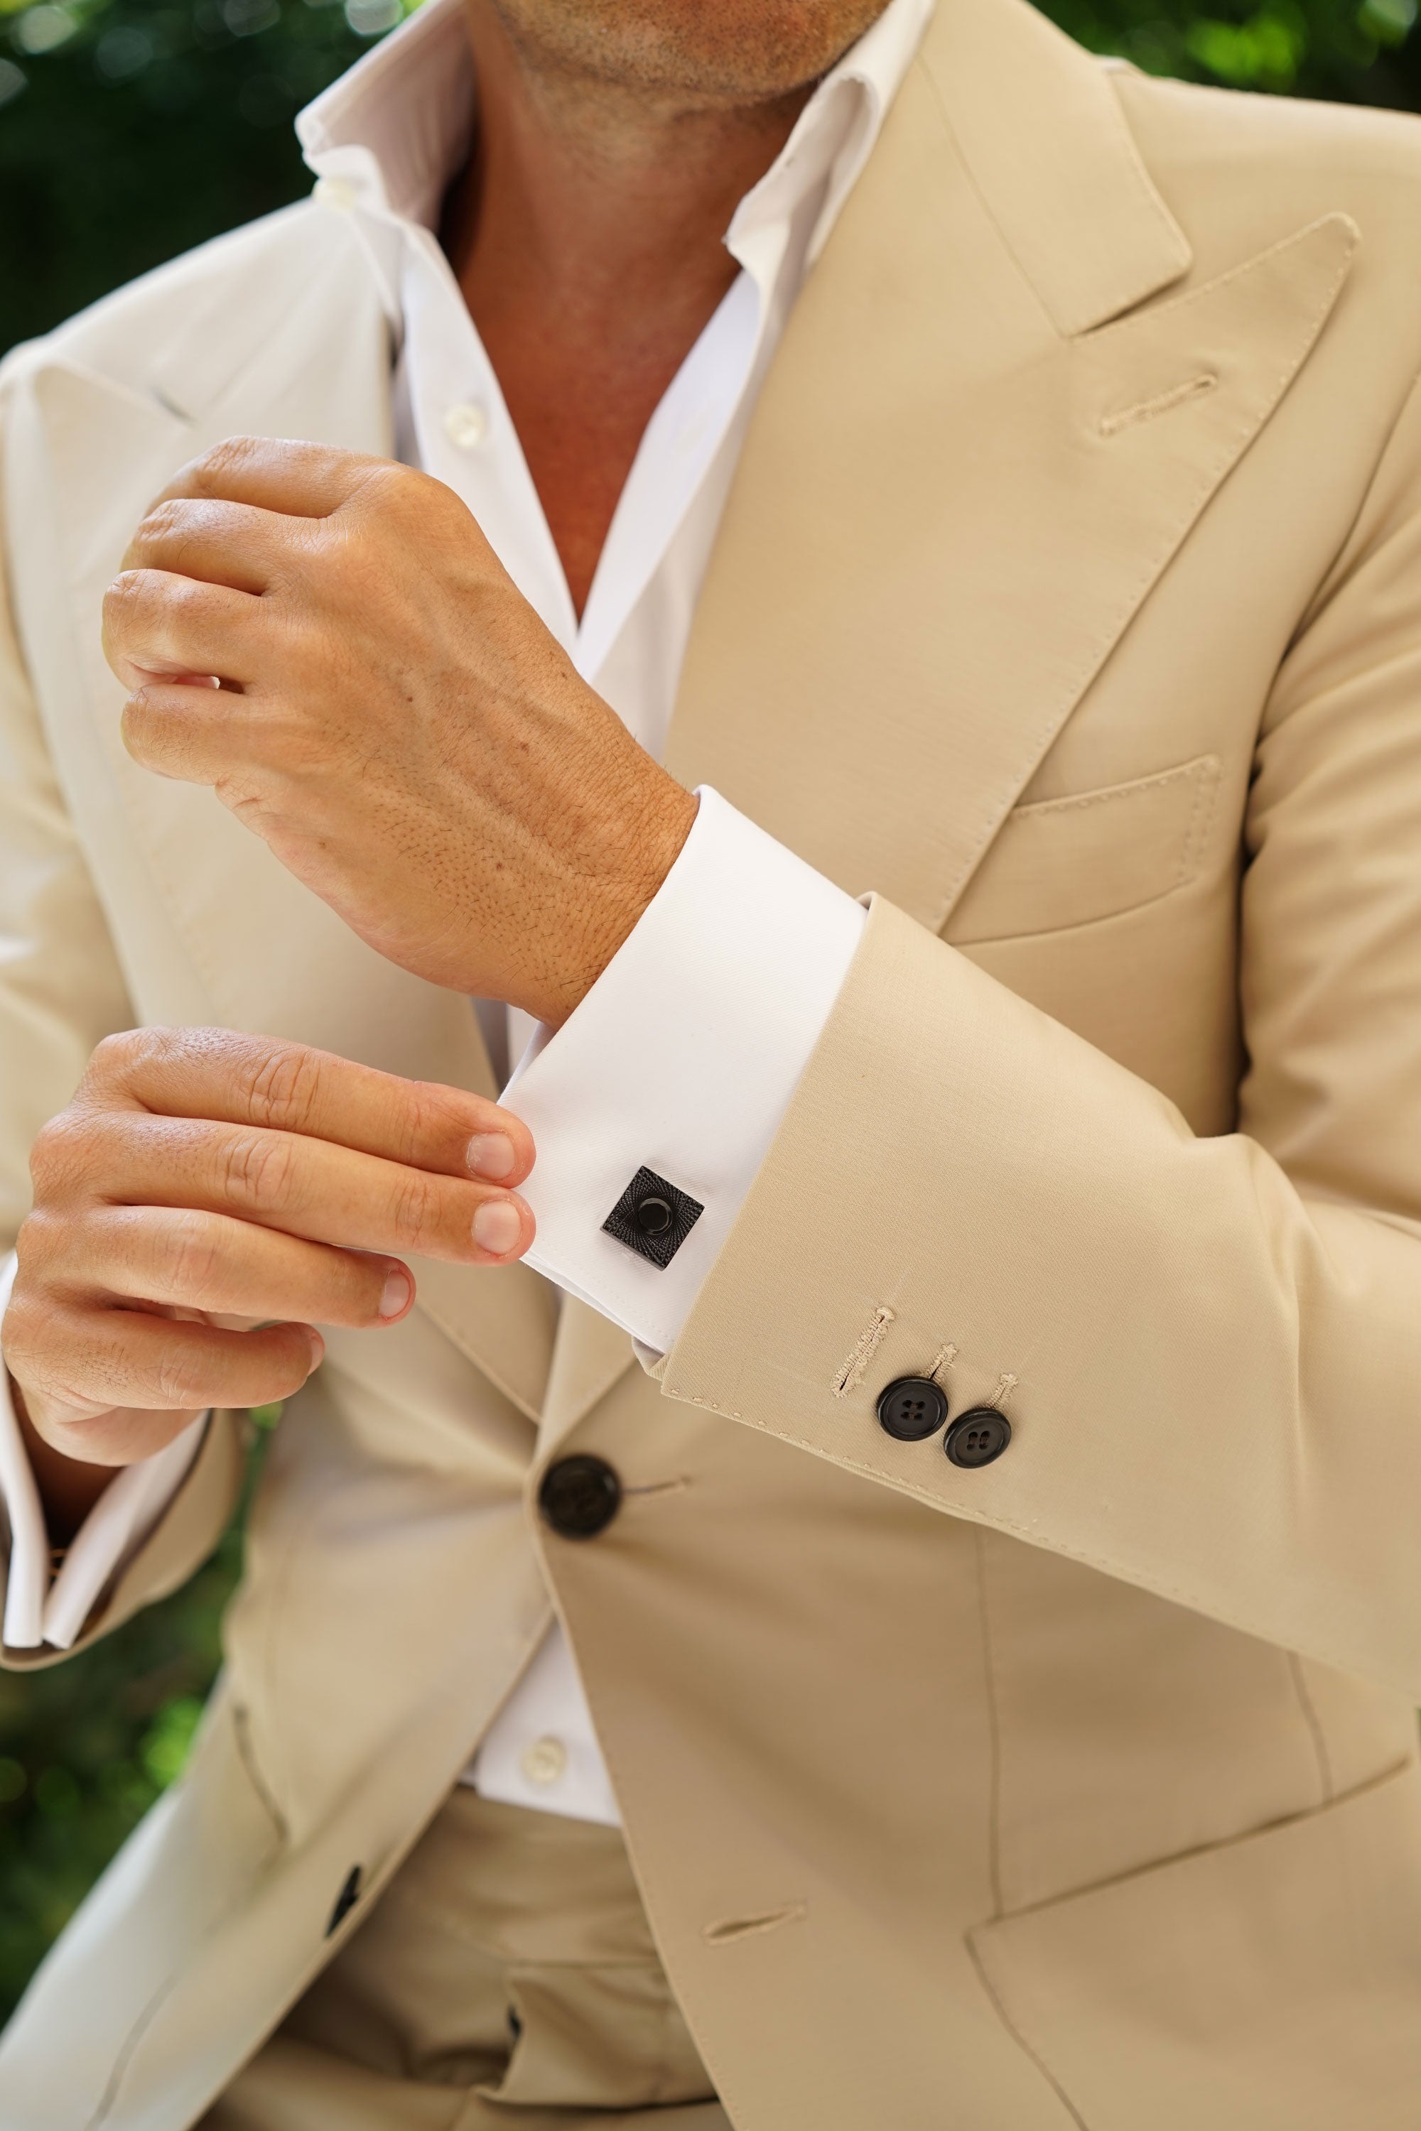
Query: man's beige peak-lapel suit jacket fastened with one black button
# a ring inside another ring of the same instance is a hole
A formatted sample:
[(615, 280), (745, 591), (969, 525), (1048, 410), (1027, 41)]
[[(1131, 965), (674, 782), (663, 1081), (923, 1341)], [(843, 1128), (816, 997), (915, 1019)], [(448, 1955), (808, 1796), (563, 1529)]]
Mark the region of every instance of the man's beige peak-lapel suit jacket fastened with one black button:
[[(671, 737), (865, 942), (652, 1381), (420, 1268), (279, 1430), (192, 1771), (0, 2048), (4, 2131), (179, 2131), (539, 1643), (577, 1652), (739, 2131), (1421, 2114), (1421, 130), (944, 0), (790, 322)], [(4, 1219), (89, 1044), (490, 1087), (119, 746), (98, 603), (232, 430), (390, 445), (298, 207), (6, 371)], [(937, 1366), (1008, 1453), (897, 1443)], [(628, 1498), (539, 1528), (569, 1447)], [(236, 1421), (94, 1632), (207, 1551)], [(21, 1654), (13, 1654), (21, 1660)], [(364, 1914), (356, 1905), (349, 1922)]]

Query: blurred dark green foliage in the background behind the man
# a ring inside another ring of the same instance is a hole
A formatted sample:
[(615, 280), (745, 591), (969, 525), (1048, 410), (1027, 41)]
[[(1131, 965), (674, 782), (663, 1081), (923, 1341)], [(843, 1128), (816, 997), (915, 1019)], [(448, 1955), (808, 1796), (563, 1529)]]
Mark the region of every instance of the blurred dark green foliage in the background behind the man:
[[(294, 113), (403, 11), (0, 0), (0, 349), (296, 198)], [(1417, 0), (1050, 0), (1048, 13), (1148, 72), (1421, 109)], [(183, 1592), (107, 1643), (0, 1673), (0, 2020), (179, 1773), (239, 1571), (241, 1517)]]

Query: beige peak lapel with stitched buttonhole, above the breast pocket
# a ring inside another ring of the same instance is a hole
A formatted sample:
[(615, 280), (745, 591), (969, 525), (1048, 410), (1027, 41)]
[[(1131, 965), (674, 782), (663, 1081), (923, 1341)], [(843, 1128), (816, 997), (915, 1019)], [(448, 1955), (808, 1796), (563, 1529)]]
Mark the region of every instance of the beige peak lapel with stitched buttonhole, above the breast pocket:
[(1327, 217), (1129, 309), (1189, 247), (1106, 70), (944, 0), (756, 407), (673, 771), (940, 929), (1353, 243)]

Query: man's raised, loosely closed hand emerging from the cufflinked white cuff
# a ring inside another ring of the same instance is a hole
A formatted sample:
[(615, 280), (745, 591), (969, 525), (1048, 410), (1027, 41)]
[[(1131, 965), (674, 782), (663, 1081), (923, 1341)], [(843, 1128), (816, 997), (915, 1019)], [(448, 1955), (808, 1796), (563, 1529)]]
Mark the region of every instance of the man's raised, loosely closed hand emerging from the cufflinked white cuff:
[(390, 961), (554, 1027), (695, 818), (458, 497), (379, 458), (194, 460), (138, 526), (104, 648), (136, 761), (211, 784)]

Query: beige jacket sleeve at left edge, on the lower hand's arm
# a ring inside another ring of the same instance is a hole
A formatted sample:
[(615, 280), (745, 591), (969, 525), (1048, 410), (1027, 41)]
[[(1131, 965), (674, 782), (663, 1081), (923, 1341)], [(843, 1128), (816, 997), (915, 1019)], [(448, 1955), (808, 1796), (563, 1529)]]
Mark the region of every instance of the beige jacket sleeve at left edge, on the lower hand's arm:
[[(94, 1044), (130, 1025), (119, 961), (45, 748), (0, 571), (0, 1257), (30, 1208), (36, 1132), (72, 1095)], [(236, 1415), (213, 1415), (173, 1507), (75, 1647), (173, 1590), (213, 1549), (241, 1485), (239, 1424)], [(0, 1502), (0, 1620), (17, 1513), (6, 1509)], [(58, 1656), (64, 1652), (43, 1645), (0, 1647), (0, 1666)]]

